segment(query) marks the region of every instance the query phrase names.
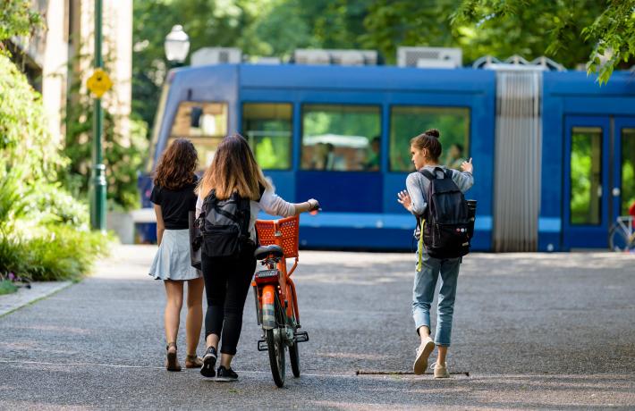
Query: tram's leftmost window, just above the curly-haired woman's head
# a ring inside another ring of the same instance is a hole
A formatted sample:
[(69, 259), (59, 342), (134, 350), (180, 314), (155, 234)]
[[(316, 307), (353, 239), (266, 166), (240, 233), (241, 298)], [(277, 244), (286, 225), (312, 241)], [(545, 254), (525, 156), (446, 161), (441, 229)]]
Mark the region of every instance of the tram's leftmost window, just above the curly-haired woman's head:
[(183, 101), (174, 116), (168, 145), (174, 138), (189, 138), (199, 152), (202, 171), (212, 162), (226, 134), (227, 104)]

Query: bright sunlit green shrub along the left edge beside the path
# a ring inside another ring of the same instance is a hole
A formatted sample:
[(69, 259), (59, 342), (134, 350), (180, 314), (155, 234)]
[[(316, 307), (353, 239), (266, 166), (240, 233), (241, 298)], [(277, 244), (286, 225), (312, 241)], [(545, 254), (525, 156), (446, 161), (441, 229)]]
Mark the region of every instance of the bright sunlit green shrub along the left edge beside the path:
[(68, 164), (44, 127), (41, 96), (0, 54), (0, 274), (77, 280), (112, 237), (88, 230), (88, 207), (57, 182)]

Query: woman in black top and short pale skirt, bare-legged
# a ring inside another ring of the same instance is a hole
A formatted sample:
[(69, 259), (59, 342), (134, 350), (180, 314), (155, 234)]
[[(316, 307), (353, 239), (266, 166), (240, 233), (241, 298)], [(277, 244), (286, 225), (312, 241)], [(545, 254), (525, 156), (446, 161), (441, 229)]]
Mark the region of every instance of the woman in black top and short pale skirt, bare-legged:
[(181, 371), (176, 356), (176, 337), (179, 332), (183, 305), (183, 283), (188, 283), (188, 315), (186, 368), (199, 368), (202, 360), (196, 355), (203, 321), (203, 278), (190, 264), (190, 234), (188, 214), (196, 206), (197, 177), (194, 174), (199, 155), (190, 140), (177, 138), (167, 147), (157, 165), (150, 201), (157, 214), (158, 250), (150, 268), (150, 275), (165, 284), (165, 339), (167, 340), (168, 371)]

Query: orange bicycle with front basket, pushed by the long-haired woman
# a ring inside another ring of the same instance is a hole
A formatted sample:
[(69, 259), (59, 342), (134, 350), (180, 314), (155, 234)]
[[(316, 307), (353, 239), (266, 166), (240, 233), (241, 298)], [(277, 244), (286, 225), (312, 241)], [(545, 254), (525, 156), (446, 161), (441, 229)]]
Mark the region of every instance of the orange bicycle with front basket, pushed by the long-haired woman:
[[(258, 220), (256, 230), (260, 247), (254, 253), (266, 269), (258, 271), (251, 286), (256, 299), (258, 325), (263, 339), (258, 340), (258, 351), (269, 352), (269, 365), (275, 385), (284, 385), (286, 365), (284, 351), (289, 348), (293, 376), (300, 376), (298, 343), (309, 340), (309, 334), (298, 331), (300, 313), (295, 284), (291, 278), (298, 266), (299, 216), (281, 220)], [(287, 258), (295, 258), (287, 271)]]

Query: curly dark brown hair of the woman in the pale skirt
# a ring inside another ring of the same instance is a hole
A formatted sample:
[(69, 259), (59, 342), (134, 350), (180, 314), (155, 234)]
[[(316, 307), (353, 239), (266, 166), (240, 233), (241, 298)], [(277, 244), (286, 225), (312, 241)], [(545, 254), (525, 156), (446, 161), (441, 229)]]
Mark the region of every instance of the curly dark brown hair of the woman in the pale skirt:
[(176, 138), (159, 158), (154, 183), (165, 189), (182, 189), (196, 181), (199, 154), (187, 138)]

